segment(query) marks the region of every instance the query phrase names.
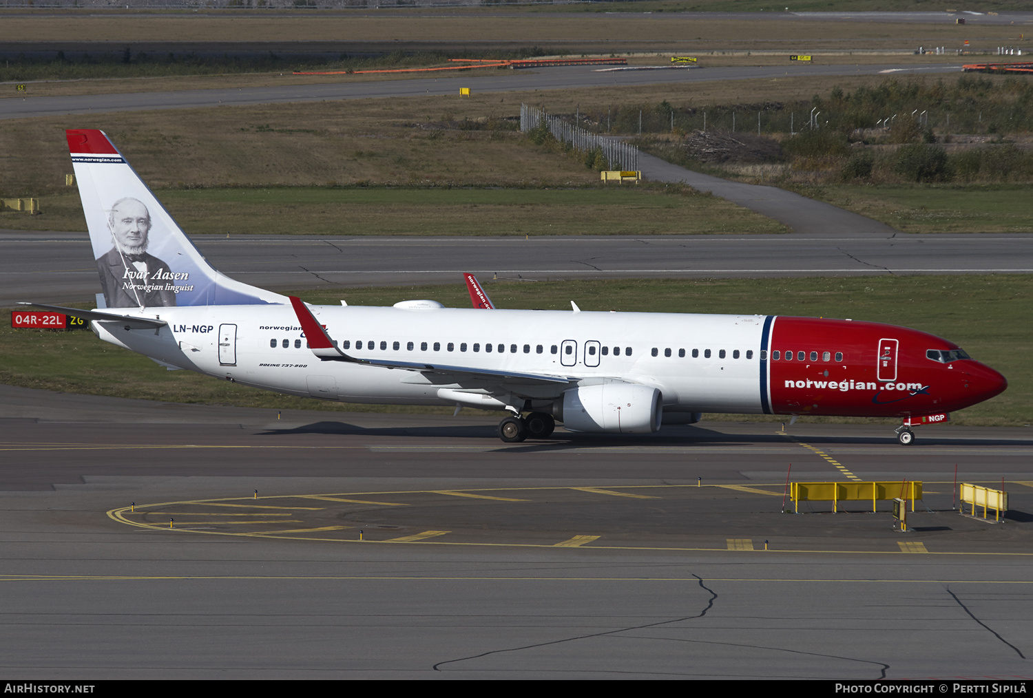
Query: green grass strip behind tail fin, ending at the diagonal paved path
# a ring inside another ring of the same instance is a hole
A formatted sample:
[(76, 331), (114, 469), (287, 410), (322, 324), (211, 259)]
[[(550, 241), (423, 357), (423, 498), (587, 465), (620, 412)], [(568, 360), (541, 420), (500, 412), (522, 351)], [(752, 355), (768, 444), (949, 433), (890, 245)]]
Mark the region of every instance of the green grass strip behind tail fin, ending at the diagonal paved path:
[[(165, 190), (188, 233), (334, 235), (612, 235), (780, 233), (787, 228), (687, 187), (580, 189), (280, 187)], [(0, 213), (0, 227), (84, 230), (76, 194), (43, 213)]]

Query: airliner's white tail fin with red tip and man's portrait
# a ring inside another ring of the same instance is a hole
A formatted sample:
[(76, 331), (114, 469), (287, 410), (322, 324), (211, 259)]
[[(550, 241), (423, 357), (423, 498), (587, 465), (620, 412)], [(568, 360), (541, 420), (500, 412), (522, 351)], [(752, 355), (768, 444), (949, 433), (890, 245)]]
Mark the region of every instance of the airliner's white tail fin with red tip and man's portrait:
[(286, 304), (201, 256), (103, 131), (65, 131), (107, 308)]

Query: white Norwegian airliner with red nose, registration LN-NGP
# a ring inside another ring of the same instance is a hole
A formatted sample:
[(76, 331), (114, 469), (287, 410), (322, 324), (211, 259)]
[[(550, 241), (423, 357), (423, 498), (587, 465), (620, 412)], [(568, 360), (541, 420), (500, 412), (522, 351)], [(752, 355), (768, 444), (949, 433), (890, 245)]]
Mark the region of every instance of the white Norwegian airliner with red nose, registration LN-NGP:
[(872, 322), (498, 310), (482, 289), (477, 309), (308, 306), (212, 268), (102, 131), (67, 138), (104, 303), (40, 307), (168, 368), (323, 400), (499, 410), (505, 442), (556, 421), (646, 434), (724, 412), (899, 416), (911, 443), (912, 425), (1007, 386), (946, 340)]

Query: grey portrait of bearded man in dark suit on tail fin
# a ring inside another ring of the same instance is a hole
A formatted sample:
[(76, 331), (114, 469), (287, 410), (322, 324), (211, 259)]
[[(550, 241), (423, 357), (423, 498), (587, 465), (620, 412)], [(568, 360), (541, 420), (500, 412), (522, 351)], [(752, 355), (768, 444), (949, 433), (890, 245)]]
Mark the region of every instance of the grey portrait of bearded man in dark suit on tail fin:
[(114, 246), (97, 258), (100, 286), (108, 308), (175, 306), (168, 264), (148, 254), (151, 213), (142, 201), (121, 198), (107, 212)]

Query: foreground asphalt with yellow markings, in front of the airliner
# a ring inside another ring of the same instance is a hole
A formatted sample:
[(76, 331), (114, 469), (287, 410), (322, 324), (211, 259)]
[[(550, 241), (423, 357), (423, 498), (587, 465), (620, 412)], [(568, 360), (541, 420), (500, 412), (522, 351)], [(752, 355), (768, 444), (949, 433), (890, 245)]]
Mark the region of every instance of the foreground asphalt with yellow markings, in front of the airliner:
[[(1028, 429), (903, 447), (885, 425), (703, 421), (506, 445), (492, 416), (2, 386), (0, 424), (12, 675), (1030, 675)], [(925, 496), (906, 533), (885, 502), (782, 513), (790, 463)], [(951, 509), (954, 464), (1003, 477), (1004, 522)]]

